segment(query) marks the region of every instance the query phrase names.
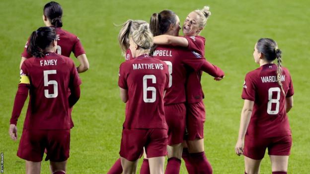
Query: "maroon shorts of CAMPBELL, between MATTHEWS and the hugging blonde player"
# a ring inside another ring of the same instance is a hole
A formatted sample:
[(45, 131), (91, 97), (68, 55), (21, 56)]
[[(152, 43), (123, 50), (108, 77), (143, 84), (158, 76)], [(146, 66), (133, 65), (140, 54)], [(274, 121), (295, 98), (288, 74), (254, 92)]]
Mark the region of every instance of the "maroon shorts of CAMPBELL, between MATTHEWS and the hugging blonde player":
[(184, 103), (165, 105), (165, 118), (168, 125), (168, 145), (182, 143), (185, 134), (186, 108)]

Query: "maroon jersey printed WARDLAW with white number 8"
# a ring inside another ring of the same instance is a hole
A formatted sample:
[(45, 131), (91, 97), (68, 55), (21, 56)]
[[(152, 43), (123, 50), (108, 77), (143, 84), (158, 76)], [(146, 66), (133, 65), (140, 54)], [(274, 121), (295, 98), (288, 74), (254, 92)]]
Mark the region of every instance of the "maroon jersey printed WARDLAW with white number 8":
[(265, 64), (245, 76), (242, 99), (254, 101), (247, 134), (276, 137), (291, 135), (285, 98), (294, 95), (289, 71), (282, 67), (281, 82), (285, 96), (277, 82), (277, 65)]

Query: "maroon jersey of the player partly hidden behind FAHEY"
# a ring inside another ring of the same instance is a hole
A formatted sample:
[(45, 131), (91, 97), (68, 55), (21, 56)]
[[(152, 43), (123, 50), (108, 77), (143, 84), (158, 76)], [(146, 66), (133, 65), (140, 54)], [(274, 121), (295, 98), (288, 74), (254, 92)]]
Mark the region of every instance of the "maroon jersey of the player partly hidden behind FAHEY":
[[(57, 54), (70, 57), (71, 52), (74, 53), (77, 58), (79, 55), (85, 54), (82, 44), (77, 36), (69, 33), (62, 28), (55, 28), (56, 40), (57, 40)], [(21, 54), (24, 58), (31, 58), (32, 55), (27, 53), (27, 47), (29, 45), (29, 39), (25, 45), (24, 52)]]

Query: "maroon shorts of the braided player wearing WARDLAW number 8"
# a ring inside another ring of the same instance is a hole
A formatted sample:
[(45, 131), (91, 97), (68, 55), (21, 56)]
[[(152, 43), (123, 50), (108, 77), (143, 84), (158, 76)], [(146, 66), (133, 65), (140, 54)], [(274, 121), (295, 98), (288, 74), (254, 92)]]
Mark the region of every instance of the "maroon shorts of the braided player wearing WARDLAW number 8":
[(291, 153), (291, 147), (291, 135), (270, 138), (245, 135), (243, 155), (254, 160), (261, 160), (268, 148), (268, 155), (287, 156)]

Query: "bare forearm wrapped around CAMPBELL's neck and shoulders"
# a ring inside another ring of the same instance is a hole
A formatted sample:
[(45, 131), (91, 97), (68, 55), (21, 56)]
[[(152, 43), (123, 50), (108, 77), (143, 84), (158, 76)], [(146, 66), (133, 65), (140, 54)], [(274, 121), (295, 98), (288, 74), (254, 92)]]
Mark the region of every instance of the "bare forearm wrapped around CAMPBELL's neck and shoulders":
[(154, 44), (188, 47), (187, 39), (185, 39), (184, 37), (177, 37), (177, 36), (170, 36), (170, 35), (155, 36)]

